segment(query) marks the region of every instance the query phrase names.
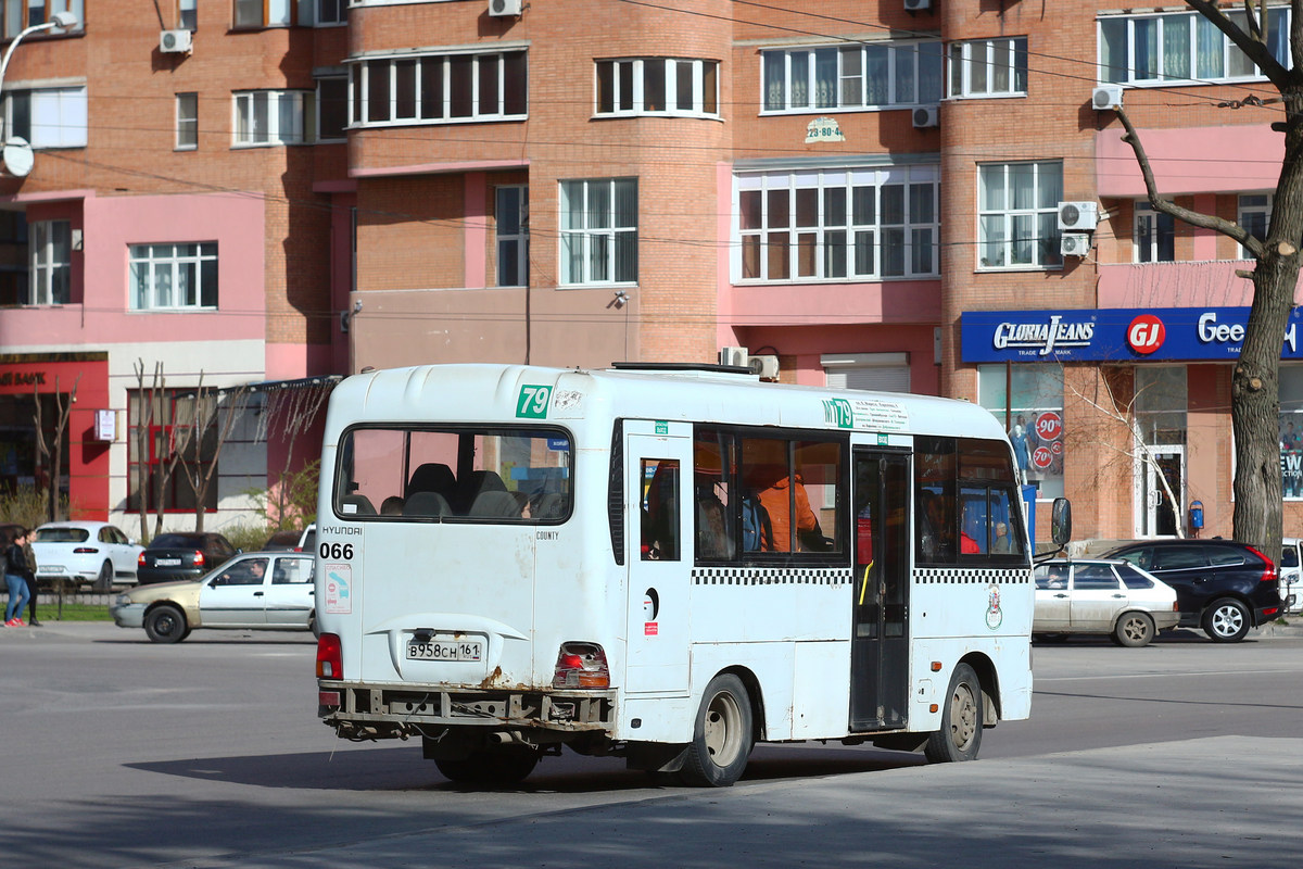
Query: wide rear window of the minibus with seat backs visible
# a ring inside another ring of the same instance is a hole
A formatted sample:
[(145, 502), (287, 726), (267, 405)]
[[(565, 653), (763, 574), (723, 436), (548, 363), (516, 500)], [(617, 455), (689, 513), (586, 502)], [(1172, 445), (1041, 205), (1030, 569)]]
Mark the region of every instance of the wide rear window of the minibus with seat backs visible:
[(352, 429), (339, 456), (344, 519), (541, 524), (571, 512), (571, 439), (559, 430)]

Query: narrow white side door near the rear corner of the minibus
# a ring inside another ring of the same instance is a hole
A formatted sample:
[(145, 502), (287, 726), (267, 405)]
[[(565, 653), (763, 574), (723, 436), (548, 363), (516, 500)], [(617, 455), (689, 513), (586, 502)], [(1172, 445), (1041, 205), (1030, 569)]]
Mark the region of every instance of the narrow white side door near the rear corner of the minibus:
[(628, 420), (624, 425), (624, 539), (629, 571), (624, 689), (685, 693), (692, 427), (641, 420)]

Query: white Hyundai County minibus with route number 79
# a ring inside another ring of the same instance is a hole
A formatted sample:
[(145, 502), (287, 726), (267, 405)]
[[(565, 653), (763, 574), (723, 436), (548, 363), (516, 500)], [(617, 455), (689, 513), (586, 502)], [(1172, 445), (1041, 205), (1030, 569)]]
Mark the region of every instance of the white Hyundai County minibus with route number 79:
[[(977, 756), (1032, 700), (998, 421), (745, 369), (430, 365), (334, 391), (319, 715), (450, 779), (563, 747), (701, 786), (757, 741)], [(1067, 504), (1055, 504), (1057, 542)]]

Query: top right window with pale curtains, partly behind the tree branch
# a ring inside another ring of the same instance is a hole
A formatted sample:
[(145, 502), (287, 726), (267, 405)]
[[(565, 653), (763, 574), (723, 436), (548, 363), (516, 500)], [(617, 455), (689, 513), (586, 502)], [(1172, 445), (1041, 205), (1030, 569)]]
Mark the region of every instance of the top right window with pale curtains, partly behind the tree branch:
[[(1243, 9), (1222, 13), (1246, 33)], [(1100, 81), (1118, 85), (1260, 78), (1257, 66), (1197, 12), (1104, 16), (1098, 20)], [(1290, 8), (1267, 10), (1267, 46), (1286, 68)]]

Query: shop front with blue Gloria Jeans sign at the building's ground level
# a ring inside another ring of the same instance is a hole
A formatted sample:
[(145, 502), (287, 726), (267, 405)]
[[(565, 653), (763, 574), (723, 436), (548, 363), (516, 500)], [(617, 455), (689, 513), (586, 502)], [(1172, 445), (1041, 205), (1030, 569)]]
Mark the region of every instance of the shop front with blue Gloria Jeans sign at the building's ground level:
[[(1248, 314), (966, 311), (962, 358), (977, 370), (975, 399), (1006, 422), (1037, 500), (1066, 494), (1088, 507), (1075, 511), (1079, 535), (1230, 535), (1230, 377)], [(1281, 352), (1286, 533), (1291, 500), (1303, 517), (1300, 319), (1295, 310)]]

